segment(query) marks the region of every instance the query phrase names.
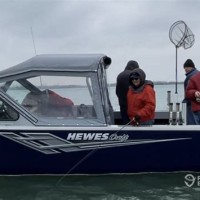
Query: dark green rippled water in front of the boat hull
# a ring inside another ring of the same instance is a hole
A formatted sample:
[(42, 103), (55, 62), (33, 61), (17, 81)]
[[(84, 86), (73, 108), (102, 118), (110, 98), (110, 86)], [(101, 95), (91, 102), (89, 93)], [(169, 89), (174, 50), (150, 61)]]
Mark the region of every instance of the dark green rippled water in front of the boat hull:
[(199, 200), (200, 173), (0, 177), (0, 200)]

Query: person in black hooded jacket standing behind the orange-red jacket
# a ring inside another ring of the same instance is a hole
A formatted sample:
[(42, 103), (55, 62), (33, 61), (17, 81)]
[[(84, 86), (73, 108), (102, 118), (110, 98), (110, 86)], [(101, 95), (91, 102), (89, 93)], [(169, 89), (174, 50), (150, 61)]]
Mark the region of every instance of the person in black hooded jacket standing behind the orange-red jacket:
[(129, 89), (129, 75), (134, 70), (139, 68), (136, 61), (130, 60), (124, 71), (117, 76), (116, 95), (118, 97), (122, 123), (127, 124), (130, 120), (127, 114), (127, 92)]

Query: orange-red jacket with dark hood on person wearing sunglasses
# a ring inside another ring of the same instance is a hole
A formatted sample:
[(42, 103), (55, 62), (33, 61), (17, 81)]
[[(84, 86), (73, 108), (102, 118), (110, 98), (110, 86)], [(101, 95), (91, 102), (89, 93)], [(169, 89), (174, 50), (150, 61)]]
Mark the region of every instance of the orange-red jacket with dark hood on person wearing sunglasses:
[[(132, 78), (137, 75), (140, 85), (135, 86)], [(135, 69), (129, 76), (130, 87), (127, 93), (127, 105), (129, 119), (139, 117), (140, 122), (153, 120), (155, 117), (156, 98), (153, 83), (146, 81), (146, 75), (142, 69)]]

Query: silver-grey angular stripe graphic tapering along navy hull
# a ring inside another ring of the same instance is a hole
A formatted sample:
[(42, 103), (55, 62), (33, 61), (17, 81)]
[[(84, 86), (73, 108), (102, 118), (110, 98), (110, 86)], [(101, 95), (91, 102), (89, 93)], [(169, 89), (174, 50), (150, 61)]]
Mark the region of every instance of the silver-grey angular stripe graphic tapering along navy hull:
[[(0, 132), (0, 135), (20, 143), (24, 146), (37, 150), (44, 154), (56, 154), (62, 152), (93, 150), (111, 147), (121, 147), (130, 145), (142, 145), (160, 142), (172, 142), (181, 140), (190, 140), (192, 138), (166, 138), (166, 139), (129, 139), (107, 140), (107, 141), (80, 141), (73, 143), (66, 139), (55, 136), (51, 133), (13, 133)], [(111, 134), (112, 135), (112, 134)]]

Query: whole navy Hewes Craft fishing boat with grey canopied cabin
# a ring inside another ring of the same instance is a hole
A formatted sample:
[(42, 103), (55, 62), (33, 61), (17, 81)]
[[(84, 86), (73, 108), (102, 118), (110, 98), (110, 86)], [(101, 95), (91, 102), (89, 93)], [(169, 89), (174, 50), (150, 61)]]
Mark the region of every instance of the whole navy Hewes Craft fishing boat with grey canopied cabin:
[(174, 123), (183, 112), (156, 113), (152, 126), (120, 123), (110, 65), (105, 54), (44, 54), (2, 70), (0, 174), (199, 171), (200, 128)]

